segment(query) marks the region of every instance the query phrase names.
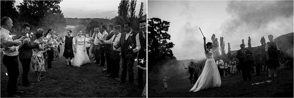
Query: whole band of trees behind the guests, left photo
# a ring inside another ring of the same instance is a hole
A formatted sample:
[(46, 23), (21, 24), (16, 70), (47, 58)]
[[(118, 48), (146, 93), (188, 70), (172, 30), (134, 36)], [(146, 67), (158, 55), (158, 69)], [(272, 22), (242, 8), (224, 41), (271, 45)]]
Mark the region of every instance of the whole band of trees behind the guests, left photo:
[[(60, 35), (66, 35), (66, 25), (75, 26), (73, 36), (77, 35), (79, 30), (83, 33), (90, 34), (94, 32), (95, 27), (101, 25), (114, 24), (121, 25), (128, 21), (132, 22), (133, 30), (139, 31), (139, 20), (142, 20), (143, 16), (143, 2), (141, 3), (141, 9), (138, 15), (135, 15), (136, 0), (123, 1), (121, 0), (118, 5), (118, 16), (112, 19), (77, 19), (77, 18), (64, 18), (63, 13), (60, 10), (61, 1), (23, 1), (19, 6), (14, 7), (15, 1), (0, 1), (1, 2), (1, 18), (7, 16), (12, 19), (13, 27), (12, 34), (18, 35), (21, 32), (21, 25), (23, 23), (29, 23), (31, 25), (32, 32), (36, 32), (37, 29), (42, 28), (44, 32), (47, 32), (49, 28), (54, 29), (56, 33)], [(18, 10), (16, 10), (18, 9)], [(122, 29), (124, 32), (124, 29)], [(20, 37), (18, 35), (17, 37)]]

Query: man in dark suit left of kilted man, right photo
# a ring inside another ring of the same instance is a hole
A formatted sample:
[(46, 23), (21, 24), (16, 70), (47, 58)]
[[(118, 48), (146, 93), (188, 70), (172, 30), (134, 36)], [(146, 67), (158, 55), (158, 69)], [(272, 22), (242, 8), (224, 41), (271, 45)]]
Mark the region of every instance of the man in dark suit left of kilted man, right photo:
[(249, 49), (245, 49), (245, 44), (240, 45), (241, 49), (237, 52), (237, 59), (239, 59), (242, 71), (242, 76), (244, 81), (251, 81), (251, 65), (249, 64), (249, 58), (252, 55), (252, 53), (249, 51)]

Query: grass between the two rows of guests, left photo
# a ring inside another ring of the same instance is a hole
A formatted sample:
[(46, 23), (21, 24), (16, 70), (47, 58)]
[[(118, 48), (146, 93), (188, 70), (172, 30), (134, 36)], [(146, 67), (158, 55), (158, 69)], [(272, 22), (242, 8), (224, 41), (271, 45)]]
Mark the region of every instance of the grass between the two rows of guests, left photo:
[[(98, 67), (90, 58), (90, 64), (84, 64), (81, 67), (65, 66), (65, 58), (55, 58), (52, 62), (54, 69), (46, 69), (42, 74), (46, 77), (41, 82), (36, 82), (35, 72), (29, 72), (29, 82), (34, 82), (34, 87), (23, 87), (21, 82), (22, 67), (19, 62), (19, 78), (17, 88), (24, 91), (18, 94), (21, 97), (142, 97), (143, 89), (137, 89), (138, 86), (138, 68), (137, 62), (134, 64), (134, 83), (117, 84), (120, 82), (121, 68), (119, 78), (110, 79), (101, 71), (106, 67)], [(2, 63), (3, 53), (1, 54), (1, 97), (7, 96), (6, 84), (8, 76), (7, 69)], [(146, 80), (146, 71), (143, 79)], [(127, 77), (128, 81), (128, 77)], [(144, 81), (146, 84), (146, 81)]]

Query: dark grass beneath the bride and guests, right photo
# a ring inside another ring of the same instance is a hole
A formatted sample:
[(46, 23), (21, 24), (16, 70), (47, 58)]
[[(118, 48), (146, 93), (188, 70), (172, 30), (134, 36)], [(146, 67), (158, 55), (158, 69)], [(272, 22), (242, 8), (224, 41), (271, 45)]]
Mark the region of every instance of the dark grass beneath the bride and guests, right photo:
[[(284, 64), (278, 69), (278, 78), (268, 79), (268, 72), (251, 73), (252, 81), (244, 82), (242, 75), (225, 77), (218, 88), (189, 92), (188, 76), (168, 79), (168, 88), (162, 92), (162, 79), (157, 74), (148, 73), (148, 97), (293, 97), (293, 70), (284, 70)], [(251, 85), (251, 83), (273, 80), (270, 83)]]

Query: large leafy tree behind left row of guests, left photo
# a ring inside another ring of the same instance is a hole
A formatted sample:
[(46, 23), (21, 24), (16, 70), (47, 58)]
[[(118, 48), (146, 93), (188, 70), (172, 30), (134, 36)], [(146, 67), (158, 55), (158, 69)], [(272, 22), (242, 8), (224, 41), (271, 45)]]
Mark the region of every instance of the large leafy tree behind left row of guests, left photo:
[(45, 1), (45, 0), (24, 0), (21, 5), (16, 6), (22, 16), (22, 21), (32, 25), (31, 29), (38, 28), (46, 31), (49, 28), (54, 29), (56, 32), (64, 32), (66, 27), (66, 19), (61, 13), (61, 1)]

